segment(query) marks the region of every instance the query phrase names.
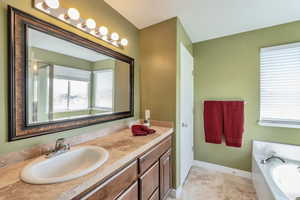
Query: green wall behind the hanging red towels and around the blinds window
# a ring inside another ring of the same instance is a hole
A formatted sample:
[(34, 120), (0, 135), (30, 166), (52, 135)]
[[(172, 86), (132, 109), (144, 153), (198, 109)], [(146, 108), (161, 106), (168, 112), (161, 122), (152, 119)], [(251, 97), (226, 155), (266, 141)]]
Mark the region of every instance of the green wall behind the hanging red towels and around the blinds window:
[[(259, 119), (259, 50), (300, 41), (300, 22), (274, 26), (195, 43), (195, 159), (251, 170), (251, 142), (264, 140), (300, 144), (300, 130), (263, 127)], [(204, 142), (203, 105), (206, 98), (241, 98), (245, 105), (242, 148)]]

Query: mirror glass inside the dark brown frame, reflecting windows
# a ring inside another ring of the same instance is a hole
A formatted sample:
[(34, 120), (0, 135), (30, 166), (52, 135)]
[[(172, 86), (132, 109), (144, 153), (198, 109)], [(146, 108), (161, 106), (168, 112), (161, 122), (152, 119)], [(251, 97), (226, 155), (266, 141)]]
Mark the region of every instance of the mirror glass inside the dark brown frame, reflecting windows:
[(29, 29), (27, 123), (130, 110), (130, 67)]

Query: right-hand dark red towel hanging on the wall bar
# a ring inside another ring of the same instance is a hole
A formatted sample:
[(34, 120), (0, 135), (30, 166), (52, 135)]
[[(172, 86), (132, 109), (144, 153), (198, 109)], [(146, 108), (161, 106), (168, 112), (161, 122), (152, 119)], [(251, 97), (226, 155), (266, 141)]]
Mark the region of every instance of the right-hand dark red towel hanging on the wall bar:
[(223, 113), (226, 145), (241, 147), (244, 132), (244, 102), (224, 101)]

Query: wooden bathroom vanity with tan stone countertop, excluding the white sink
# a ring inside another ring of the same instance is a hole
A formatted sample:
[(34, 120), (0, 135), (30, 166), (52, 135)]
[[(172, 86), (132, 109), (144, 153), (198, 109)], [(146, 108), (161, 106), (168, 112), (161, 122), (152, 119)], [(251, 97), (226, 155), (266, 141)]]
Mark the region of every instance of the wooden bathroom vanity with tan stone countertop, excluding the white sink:
[(32, 160), (0, 168), (0, 199), (165, 199), (172, 185), (173, 128), (155, 124), (152, 128), (155, 134), (134, 137), (126, 128), (81, 144), (102, 147), (109, 158), (71, 181), (44, 185), (21, 181), (21, 170)]

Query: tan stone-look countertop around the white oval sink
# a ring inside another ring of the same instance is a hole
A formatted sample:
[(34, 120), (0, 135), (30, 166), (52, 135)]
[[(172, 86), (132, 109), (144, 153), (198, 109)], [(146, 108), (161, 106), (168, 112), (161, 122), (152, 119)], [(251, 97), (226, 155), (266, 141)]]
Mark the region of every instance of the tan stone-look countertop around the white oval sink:
[(155, 134), (134, 137), (130, 129), (123, 129), (80, 144), (105, 148), (109, 152), (109, 159), (95, 171), (71, 181), (47, 185), (32, 185), (23, 182), (20, 180), (19, 174), (32, 159), (0, 168), (0, 200), (72, 199), (109, 177), (173, 132), (173, 128), (169, 127), (152, 126), (151, 128), (156, 130)]

